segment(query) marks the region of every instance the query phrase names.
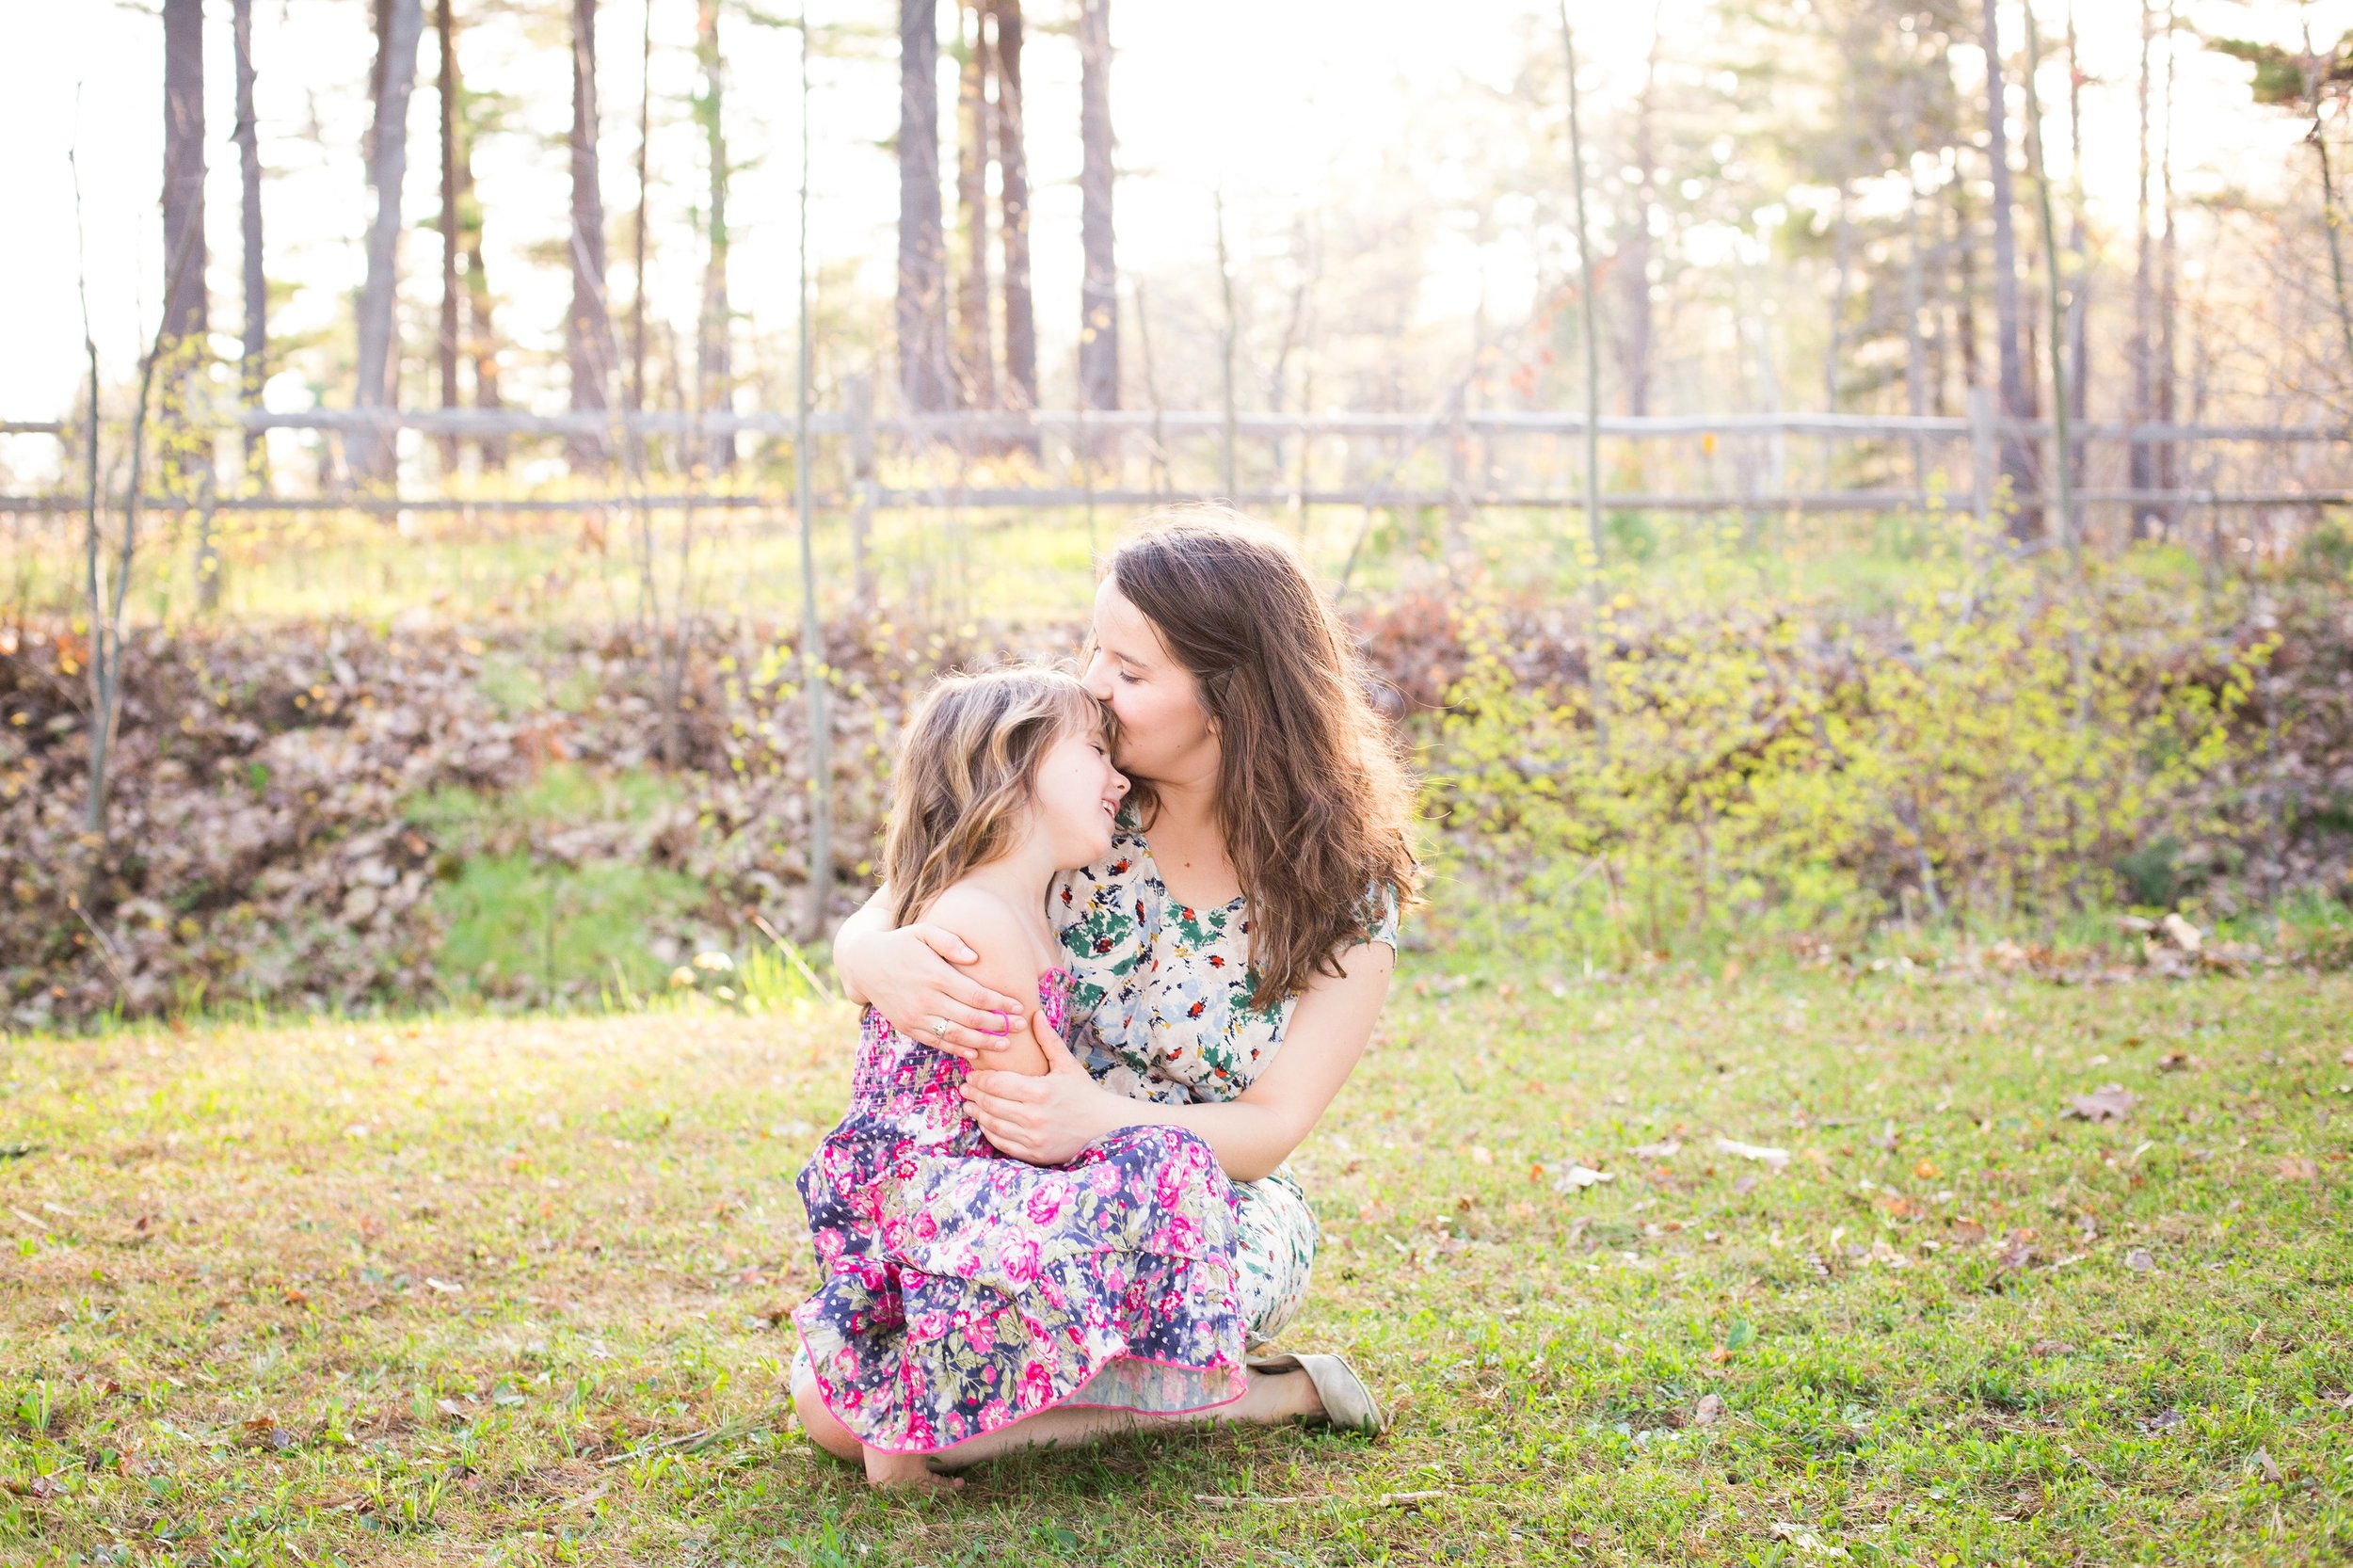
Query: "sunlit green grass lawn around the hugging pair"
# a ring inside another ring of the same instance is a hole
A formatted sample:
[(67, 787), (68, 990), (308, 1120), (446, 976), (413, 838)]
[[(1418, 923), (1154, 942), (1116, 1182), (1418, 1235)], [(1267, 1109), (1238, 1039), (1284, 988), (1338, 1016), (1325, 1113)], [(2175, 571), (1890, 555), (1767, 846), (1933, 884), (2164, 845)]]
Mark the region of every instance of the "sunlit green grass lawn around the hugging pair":
[(847, 1048), (835, 1010), (0, 1041), (0, 1561), (2353, 1554), (2348, 977), (1414, 965), (1299, 1154), (1289, 1335), (1395, 1429), (920, 1500), (779, 1394)]

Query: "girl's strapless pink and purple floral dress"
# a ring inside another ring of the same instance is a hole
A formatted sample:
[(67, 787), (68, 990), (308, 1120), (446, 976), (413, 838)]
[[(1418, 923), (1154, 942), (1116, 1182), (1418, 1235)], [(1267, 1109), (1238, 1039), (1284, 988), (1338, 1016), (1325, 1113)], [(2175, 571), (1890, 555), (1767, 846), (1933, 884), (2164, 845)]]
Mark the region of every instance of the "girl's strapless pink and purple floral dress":
[[(1038, 982), (1064, 1029), (1071, 975)], [(965, 1062), (859, 1029), (849, 1109), (800, 1170), (821, 1285), (795, 1314), (826, 1408), (887, 1453), (936, 1453), (1059, 1403), (1188, 1413), (1240, 1398), (1233, 1184), (1176, 1128), (1068, 1165), (988, 1144)]]

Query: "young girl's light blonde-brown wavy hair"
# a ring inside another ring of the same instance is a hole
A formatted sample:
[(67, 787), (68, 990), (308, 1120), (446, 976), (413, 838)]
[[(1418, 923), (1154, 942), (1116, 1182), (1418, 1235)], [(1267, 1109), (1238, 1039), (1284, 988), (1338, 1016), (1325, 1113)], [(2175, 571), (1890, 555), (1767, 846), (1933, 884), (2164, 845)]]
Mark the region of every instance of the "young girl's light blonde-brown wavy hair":
[(1111, 713), (1075, 676), (1016, 666), (934, 683), (899, 737), (882, 881), (892, 925), (906, 925), (974, 866), (1007, 855), (1038, 782), (1066, 735), (1104, 730)]

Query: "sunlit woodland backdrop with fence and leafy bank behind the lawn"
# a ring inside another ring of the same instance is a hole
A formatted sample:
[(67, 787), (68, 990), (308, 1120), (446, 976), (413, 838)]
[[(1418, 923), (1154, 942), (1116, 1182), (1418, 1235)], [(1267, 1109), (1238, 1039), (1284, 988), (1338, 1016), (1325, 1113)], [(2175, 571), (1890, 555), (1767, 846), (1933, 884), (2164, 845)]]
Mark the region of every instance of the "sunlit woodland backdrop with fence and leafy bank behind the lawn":
[(9, 1017), (805, 986), (908, 695), (1191, 497), (1358, 629), (1421, 942), (2341, 961), (2341, 7), (1494, 5), (1308, 177), (1200, 85), (1191, 186), (1122, 16), (111, 21), (160, 181), (56, 148), (12, 304), (85, 353), (0, 447)]

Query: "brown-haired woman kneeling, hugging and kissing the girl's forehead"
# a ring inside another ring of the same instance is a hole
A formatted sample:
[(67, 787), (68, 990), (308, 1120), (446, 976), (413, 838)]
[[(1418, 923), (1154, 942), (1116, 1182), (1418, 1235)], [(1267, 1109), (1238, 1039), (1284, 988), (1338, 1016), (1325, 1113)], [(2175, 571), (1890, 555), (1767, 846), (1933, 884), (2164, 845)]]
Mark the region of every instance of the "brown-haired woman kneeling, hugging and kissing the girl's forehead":
[[(974, 1062), (965, 1097), (1014, 1158), (1059, 1165), (1129, 1125), (1207, 1142), (1240, 1196), (1240, 1307), (1264, 1344), (1299, 1314), (1315, 1257), (1315, 1217), (1285, 1158), (1348, 1081), (1388, 996), (1398, 906), (1414, 892), (1412, 791), (1299, 556), (1235, 513), (1181, 513), (1118, 549), (1082, 678), (1118, 718), (1115, 760), (1134, 784), (1108, 859), (1054, 897), (1085, 1064), (1035, 998), (962, 975), (960, 939), (892, 930), (887, 892), (842, 925), (833, 963), (894, 1029)], [(1045, 1045), (1042, 1078), (988, 1071), (1016, 1026)], [(1165, 1420), (1153, 1380), (1115, 1370), (939, 1457)], [(819, 1443), (856, 1453), (805, 1377), (793, 1391)], [(1249, 1391), (1209, 1415), (1381, 1422), (1337, 1356), (1254, 1361)]]

